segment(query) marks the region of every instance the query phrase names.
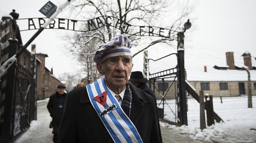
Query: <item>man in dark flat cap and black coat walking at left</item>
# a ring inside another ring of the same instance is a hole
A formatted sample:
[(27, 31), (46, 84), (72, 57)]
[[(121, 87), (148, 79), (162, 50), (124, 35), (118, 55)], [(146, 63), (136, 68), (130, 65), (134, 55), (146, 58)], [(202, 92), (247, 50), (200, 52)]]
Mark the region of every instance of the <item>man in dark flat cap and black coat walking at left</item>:
[(64, 92), (65, 88), (66, 87), (64, 85), (58, 85), (56, 93), (50, 96), (49, 102), (47, 104), (47, 109), (50, 113), (50, 116), (52, 117), (52, 140), (54, 143), (57, 142), (60, 120), (63, 115), (64, 103), (66, 100), (66, 93)]

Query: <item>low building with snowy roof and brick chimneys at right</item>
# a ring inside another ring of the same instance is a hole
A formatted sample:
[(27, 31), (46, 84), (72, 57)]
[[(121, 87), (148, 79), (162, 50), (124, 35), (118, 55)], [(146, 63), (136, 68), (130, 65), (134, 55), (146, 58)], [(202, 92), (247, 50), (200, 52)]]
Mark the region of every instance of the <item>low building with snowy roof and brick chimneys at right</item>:
[[(200, 90), (204, 90), (204, 94), (208, 93), (213, 97), (240, 96), (248, 94), (248, 74), (246, 70), (242, 69), (245, 67), (250, 71), (252, 95), (256, 95), (256, 60), (251, 60), (250, 53), (248, 53), (248, 57), (236, 57), (236, 60), (240, 62), (244, 60), (244, 65), (235, 64), (233, 52), (227, 52), (227, 65), (214, 66), (209, 69), (205, 66), (200, 71), (188, 70), (186, 79), (198, 94)], [(160, 92), (155, 89), (157, 99), (161, 99), (160, 94), (164, 94), (172, 81), (172, 78), (165, 79), (164, 83), (162, 80), (155, 81), (155, 87)], [(151, 88), (153, 89), (153, 85)], [(176, 81), (168, 90), (165, 99), (175, 99), (175, 94), (177, 95), (175, 88), (177, 88)]]

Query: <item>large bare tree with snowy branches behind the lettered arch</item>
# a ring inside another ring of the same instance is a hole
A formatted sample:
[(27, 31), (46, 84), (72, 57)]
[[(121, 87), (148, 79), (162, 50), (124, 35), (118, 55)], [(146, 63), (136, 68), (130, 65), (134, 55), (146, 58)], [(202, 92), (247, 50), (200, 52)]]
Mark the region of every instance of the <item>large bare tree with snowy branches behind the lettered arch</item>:
[[(162, 17), (162, 13), (170, 12), (173, 9), (176, 10), (176, 15), (173, 14), (176, 19), (174, 19), (173, 24), (165, 27), (173, 29), (171, 34), (174, 36), (180, 24), (184, 22), (184, 18), (193, 9), (193, 6), (190, 6), (189, 2), (180, 5), (175, 0), (75, 0), (71, 3), (70, 15), (76, 15), (76, 18), (83, 20), (102, 17), (104, 21), (108, 20), (104, 16), (111, 16), (116, 17), (116, 19), (111, 19), (112, 23), (149, 26), (155, 23), (159, 24), (159, 21), (166, 18)], [(81, 31), (86, 28), (88, 28), (87, 25), (82, 25)], [(70, 51), (84, 67), (83, 71), (87, 75), (88, 83), (91, 82), (91, 79), (97, 77), (97, 70), (92, 60), (94, 52), (101, 44), (111, 40), (114, 35), (127, 34), (127, 31), (124, 29), (123, 27), (116, 28), (116, 26), (105, 25), (93, 31), (76, 32), (66, 36), (67, 41), (70, 41)], [(133, 30), (130, 28), (129, 32), (131, 33)], [(133, 34), (128, 34), (128, 37), (134, 46), (139, 45), (145, 39), (141, 36), (134, 36)], [(148, 45), (144, 45), (144, 49), (160, 42), (168, 43), (174, 38), (150, 38), (150, 40), (147, 40), (150, 42)]]

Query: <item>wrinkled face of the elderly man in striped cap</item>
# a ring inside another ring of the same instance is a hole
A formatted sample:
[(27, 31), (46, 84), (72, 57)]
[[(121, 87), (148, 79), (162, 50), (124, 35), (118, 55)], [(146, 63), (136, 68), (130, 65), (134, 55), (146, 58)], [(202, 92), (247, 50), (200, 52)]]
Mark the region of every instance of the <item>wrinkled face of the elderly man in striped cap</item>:
[(97, 63), (101, 75), (105, 75), (106, 84), (115, 92), (122, 91), (128, 83), (132, 71), (131, 56), (114, 56), (107, 58), (102, 64)]

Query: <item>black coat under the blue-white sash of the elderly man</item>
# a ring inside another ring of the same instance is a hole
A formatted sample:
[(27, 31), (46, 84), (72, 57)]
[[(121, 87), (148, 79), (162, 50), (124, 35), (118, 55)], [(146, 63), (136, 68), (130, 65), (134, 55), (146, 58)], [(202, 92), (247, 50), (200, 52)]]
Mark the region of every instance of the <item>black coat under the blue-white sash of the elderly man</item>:
[[(130, 83), (129, 83), (130, 84)], [(153, 98), (130, 84), (130, 120), (144, 143), (159, 143), (159, 127)], [(58, 143), (112, 143), (113, 140), (91, 105), (86, 87), (68, 93), (60, 123)]]

